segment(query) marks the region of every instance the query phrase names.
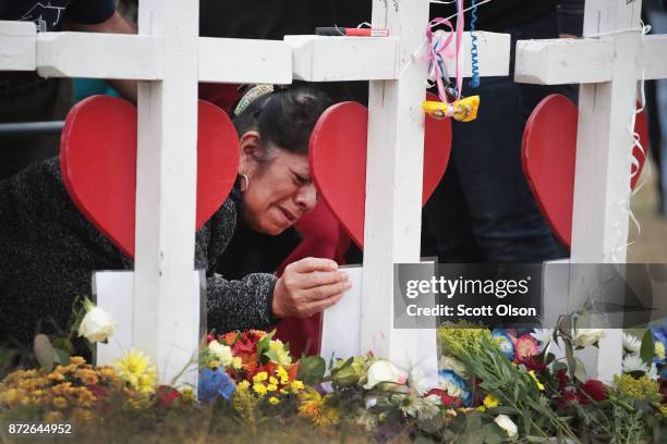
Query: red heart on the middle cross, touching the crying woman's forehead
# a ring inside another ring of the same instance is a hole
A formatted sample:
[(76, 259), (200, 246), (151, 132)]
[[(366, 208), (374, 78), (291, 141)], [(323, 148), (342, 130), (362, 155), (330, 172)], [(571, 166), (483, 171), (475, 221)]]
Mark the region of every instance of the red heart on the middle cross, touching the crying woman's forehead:
[[(329, 108), (311, 136), (310, 163), (313, 180), (336, 218), (360, 248), (364, 244), (367, 139), (368, 110), (356, 102), (343, 102)], [(449, 162), (449, 119), (438, 121), (426, 116), (424, 150), (422, 203), (426, 203), (438, 186)]]

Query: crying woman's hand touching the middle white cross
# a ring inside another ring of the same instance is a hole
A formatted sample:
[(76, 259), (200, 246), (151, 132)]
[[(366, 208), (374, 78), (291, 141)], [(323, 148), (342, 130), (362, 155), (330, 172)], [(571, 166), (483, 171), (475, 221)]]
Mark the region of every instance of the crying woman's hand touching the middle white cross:
[(326, 310), (352, 287), (348, 273), (329, 259), (305, 258), (290, 263), (274, 289), (274, 316), (307, 318)]

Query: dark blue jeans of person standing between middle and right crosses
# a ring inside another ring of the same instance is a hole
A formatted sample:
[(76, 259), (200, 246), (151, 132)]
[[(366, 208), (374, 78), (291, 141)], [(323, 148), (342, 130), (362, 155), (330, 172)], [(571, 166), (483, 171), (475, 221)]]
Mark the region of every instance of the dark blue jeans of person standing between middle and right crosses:
[[(513, 74), (517, 40), (557, 37), (556, 13), (505, 32), (512, 37)], [(574, 98), (574, 88), (517, 84), (511, 75), (482, 77), (478, 88), (464, 87), (463, 92), (481, 96), (480, 113), (474, 122), (452, 124), (449, 166), (423, 211), (422, 255), (459, 263), (563, 257), (523, 175), (521, 140), (530, 113), (543, 98)]]

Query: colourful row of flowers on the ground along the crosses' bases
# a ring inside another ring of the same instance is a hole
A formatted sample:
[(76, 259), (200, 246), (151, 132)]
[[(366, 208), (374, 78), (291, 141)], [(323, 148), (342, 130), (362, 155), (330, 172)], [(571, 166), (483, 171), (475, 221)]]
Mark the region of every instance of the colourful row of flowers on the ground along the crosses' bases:
[(624, 337), (623, 373), (609, 384), (587, 378), (575, 355), (604, 331), (572, 329), (566, 319), (545, 330), (442, 325), (435, 387), (419, 368), (371, 353), (328, 366), (318, 356), (295, 359), (274, 334), (209, 335), (198, 359), (198, 403), (189, 387), (158, 385), (157, 369), (138, 350), (95, 368), (38, 337), (43, 368), (0, 383), (0, 417), (86, 424), (114, 409), (151, 421), (165, 418), (162, 410), (210, 418), (213, 409), (251, 435), (305, 421), (329, 437), (359, 430), (378, 441), (442, 443), (651, 443), (667, 433), (665, 324), (641, 341)]

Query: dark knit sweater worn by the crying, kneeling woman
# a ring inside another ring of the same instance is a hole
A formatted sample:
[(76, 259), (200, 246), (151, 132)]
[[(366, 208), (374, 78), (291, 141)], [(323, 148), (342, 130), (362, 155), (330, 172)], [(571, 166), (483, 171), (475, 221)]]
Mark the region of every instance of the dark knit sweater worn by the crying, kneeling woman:
[[(276, 323), (275, 275), (228, 281), (215, 273), (237, 227), (238, 207), (227, 199), (196, 233), (194, 267), (207, 270), (208, 329), (218, 332)], [(73, 299), (90, 295), (93, 271), (132, 267), (74, 206), (57, 158), (0, 182), (0, 343), (26, 346), (37, 332), (69, 328)]]

